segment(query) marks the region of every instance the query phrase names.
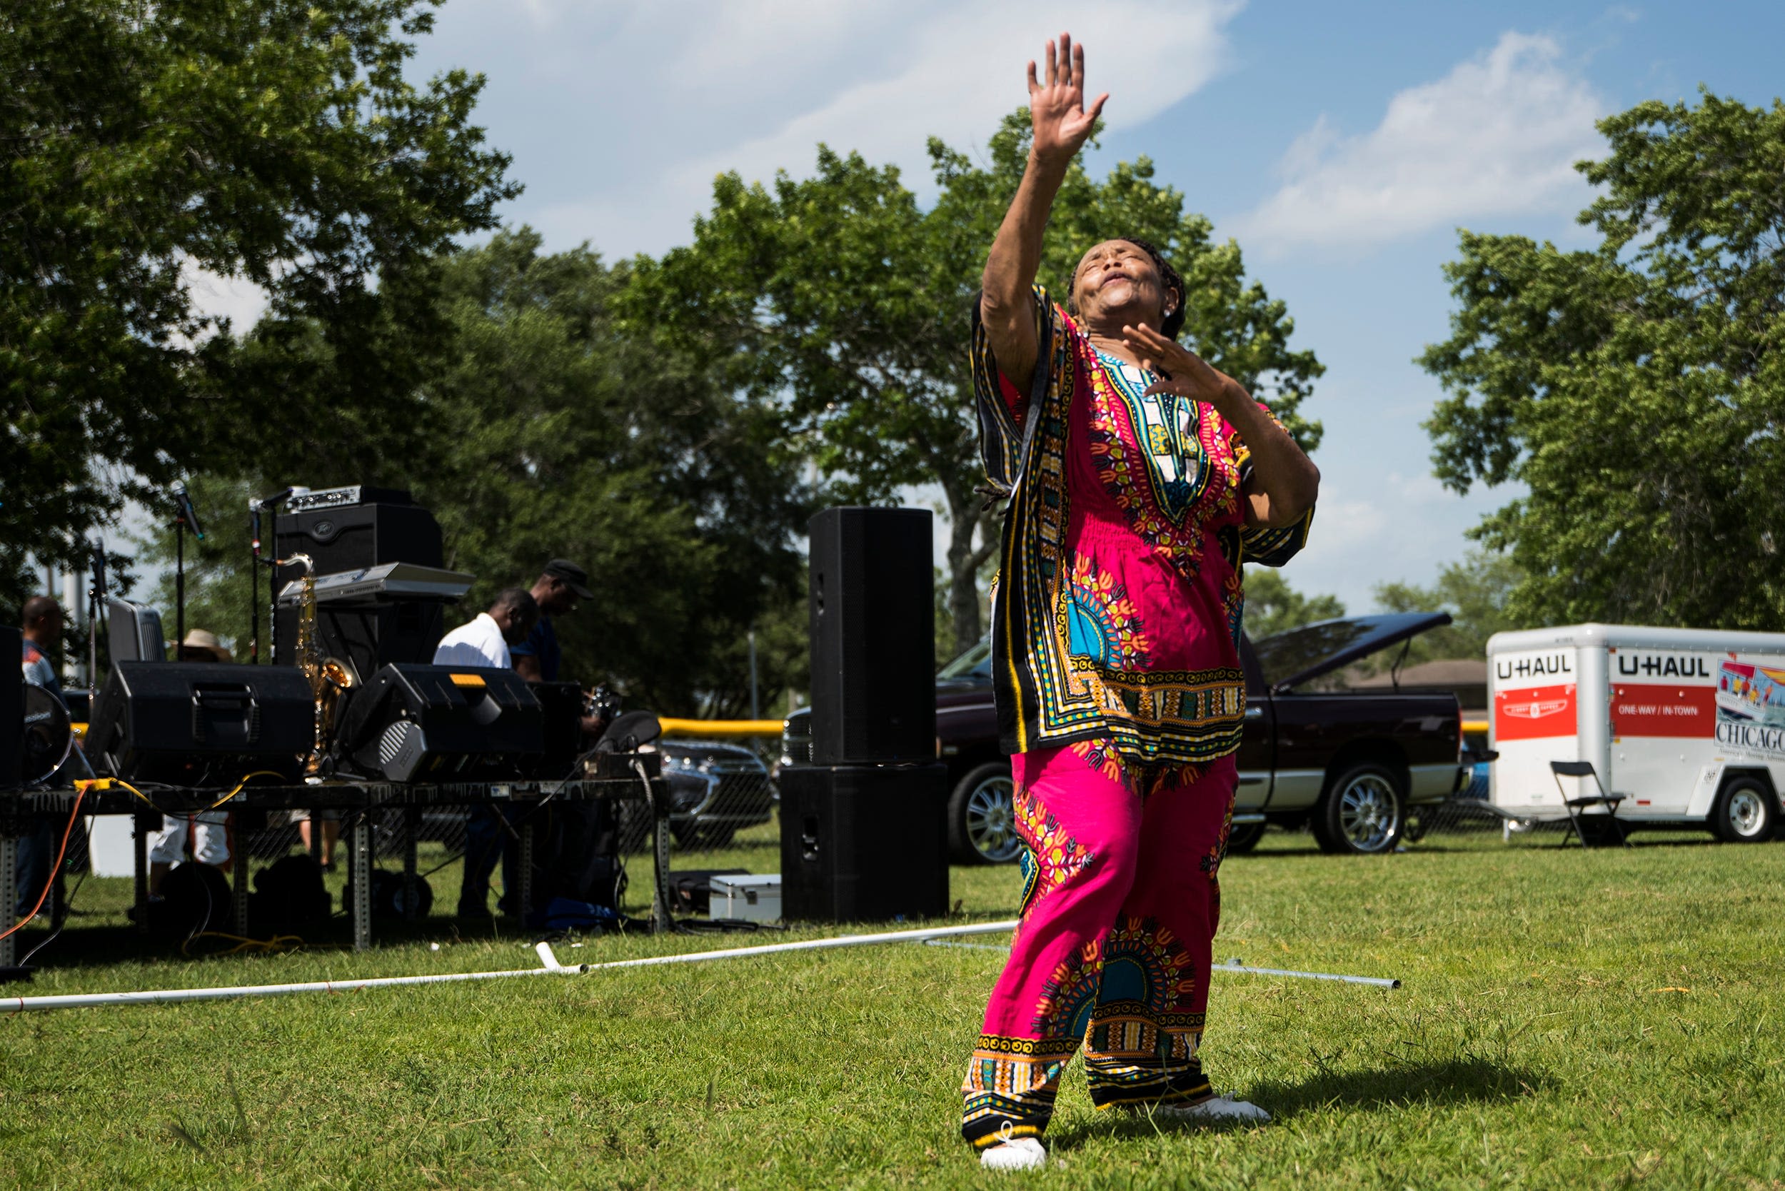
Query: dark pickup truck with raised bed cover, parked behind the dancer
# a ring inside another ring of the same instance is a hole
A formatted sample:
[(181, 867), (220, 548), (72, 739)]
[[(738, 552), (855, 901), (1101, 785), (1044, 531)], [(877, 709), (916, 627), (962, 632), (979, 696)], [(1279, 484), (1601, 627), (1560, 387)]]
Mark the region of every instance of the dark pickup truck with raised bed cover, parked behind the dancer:
[[(1410, 811), (1444, 802), (1467, 780), (1453, 695), (1344, 689), (1348, 666), (1398, 645), (1405, 655), (1412, 637), (1448, 623), (1446, 612), (1392, 612), (1241, 637), (1246, 732), (1230, 852), (1257, 846), (1269, 825), (1303, 823), (1323, 852), (1392, 852), (1408, 834)], [(810, 712), (794, 711), (784, 723), (782, 764), (807, 761), (810, 736)], [(937, 675), (935, 736), (953, 791), (953, 859), (1014, 861), (1023, 841), (1010, 761), (998, 748), (989, 641)]]

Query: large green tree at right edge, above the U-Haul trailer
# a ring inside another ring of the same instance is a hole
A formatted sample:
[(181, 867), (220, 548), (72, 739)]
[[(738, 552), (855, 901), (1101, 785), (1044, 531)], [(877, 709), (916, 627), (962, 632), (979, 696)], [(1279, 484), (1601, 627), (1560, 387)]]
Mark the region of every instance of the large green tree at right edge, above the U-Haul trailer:
[(1419, 362), (1453, 489), (1519, 482), (1474, 530), (1519, 623), (1785, 623), (1785, 104), (1708, 91), (1599, 121), (1599, 245), (1462, 234), (1451, 337)]

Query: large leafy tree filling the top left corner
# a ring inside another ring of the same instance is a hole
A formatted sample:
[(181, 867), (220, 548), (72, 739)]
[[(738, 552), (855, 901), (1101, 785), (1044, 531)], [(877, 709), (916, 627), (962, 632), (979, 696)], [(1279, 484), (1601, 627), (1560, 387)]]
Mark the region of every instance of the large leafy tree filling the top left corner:
[[(430, 262), (518, 193), (482, 79), (403, 79), (430, 7), (0, 7), (0, 595), (187, 471), (373, 479), (412, 441)], [(246, 345), (195, 266), (270, 295)]]

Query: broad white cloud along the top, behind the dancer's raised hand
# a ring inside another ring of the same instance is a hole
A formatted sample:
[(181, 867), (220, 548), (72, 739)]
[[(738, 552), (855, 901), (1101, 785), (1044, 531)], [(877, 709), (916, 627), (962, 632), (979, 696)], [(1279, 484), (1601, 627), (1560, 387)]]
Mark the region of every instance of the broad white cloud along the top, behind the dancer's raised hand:
[(925, 141), (971, 150), (1026, 100), (1025, 64), (1071, 30), (1110, 129), (1139, 125), (1228, 62), (1242, 0), (455, 0), (418, 73), (469, 66), (527, 195), (509, 218), (552, 248), (685, 243), (714, 175), (809, 173), (816, 146), (930, 184)]

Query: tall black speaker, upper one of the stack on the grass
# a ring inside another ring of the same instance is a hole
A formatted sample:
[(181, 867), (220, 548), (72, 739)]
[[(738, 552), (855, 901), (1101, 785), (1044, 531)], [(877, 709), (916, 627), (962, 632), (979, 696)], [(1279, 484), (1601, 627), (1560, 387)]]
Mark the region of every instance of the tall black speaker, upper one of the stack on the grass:
[(935, 759), (928, 509), (812, 518), (812, 764)]

